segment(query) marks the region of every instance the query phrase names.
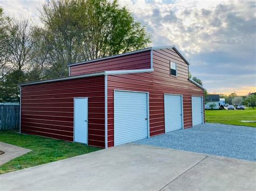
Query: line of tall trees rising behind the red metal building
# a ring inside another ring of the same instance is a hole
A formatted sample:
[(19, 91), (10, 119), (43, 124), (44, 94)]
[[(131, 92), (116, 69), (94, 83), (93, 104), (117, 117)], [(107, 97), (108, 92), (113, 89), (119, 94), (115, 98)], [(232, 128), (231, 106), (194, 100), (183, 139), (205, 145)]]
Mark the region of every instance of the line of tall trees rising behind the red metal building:
[(0, 8), (0, 102), (19, 100), (18, 83), (67, 76), (70, 63), (134, 51), (150, 43), (145, 26), (116, 0), (55, 0), (41, 25)]

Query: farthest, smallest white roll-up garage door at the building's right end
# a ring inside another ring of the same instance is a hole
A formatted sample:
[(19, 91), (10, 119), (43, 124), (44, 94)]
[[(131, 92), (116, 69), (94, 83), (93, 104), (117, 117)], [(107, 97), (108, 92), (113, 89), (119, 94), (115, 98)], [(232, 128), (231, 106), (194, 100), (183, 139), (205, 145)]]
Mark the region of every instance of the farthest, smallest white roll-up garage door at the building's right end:
[(203, 98), (192, 96), (192, 125), (203, 124)]

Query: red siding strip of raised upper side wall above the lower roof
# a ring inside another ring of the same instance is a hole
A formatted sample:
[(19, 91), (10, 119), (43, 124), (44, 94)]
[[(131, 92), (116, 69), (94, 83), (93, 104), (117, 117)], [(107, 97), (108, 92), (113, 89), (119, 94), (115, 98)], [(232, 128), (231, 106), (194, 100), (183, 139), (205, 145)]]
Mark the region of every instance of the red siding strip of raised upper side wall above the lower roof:
[(71, 66), (70, 75), (81, 75), (106, 70), (149, 69), (150, 51), (126, 55), (118, 58), (107, 59)]

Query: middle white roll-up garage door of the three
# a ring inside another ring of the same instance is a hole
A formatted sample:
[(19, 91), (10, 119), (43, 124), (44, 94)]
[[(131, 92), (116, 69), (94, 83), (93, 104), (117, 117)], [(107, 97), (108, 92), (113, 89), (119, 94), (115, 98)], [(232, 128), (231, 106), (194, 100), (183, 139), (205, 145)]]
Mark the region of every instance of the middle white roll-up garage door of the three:
[(164, 95), (165, 132), (183, 128), (182, 97), (180, 95)]

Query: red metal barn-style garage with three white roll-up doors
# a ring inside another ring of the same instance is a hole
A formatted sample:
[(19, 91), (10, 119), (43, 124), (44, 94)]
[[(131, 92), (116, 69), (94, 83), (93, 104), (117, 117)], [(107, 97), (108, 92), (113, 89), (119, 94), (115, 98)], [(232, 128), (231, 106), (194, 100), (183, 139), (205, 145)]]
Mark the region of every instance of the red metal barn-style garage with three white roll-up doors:
[(19, 84), (21, 132), (112, 147), (204, 123), (204, 88), (174, 46), (69, 65), (70, 76)]

